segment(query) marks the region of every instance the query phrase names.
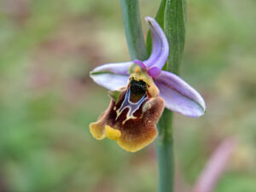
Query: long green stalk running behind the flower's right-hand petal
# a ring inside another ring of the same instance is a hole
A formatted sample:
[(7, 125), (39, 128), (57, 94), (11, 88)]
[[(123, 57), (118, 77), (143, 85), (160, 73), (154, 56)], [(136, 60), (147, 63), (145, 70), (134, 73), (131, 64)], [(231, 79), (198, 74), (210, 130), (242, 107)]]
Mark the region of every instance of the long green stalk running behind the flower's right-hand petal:
[[(165, 6), (164, 6), (165, 4)], [(162, 0), (156, 16), (164, 13), (164, 28), (169, 43), (169, 56), (165, 70), (179, 73), (185, 40), (185, 4), (183, 0)], [(173, 192), (174, 184), (174, 154), (172, 112), (165, 109), (158, 123), (159, 136), (156, 142), (159, 160), (159, 191)]]

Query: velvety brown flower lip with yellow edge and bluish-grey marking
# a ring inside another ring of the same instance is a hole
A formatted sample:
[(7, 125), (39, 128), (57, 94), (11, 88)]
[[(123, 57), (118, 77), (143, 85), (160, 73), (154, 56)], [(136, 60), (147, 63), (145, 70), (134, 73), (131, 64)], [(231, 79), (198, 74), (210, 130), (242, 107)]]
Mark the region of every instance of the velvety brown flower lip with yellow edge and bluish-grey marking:
[(91, 123), (90, 133), (98, 140), (106, 137), (115, 140), (121, 148), (130, 152), (144, 148), (157, 136), (156, 123), (164, 109), (164, 100), (143, 96), (131, 102), (129, 87), (119, 95), (119, 102), (112, 99), (101, 118)]

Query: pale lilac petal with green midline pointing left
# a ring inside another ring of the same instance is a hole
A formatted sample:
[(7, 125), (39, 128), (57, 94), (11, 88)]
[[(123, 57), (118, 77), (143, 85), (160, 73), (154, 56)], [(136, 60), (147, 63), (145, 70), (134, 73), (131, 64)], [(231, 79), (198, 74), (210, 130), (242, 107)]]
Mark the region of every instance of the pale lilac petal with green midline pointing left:
[(125, 86), (129, 79), (128, 68), (133, 64), (132, 61), (124, 63), (109, 63), (96, 67), (90, 72), (90, 78), (96, 84), (100, 84), (108, 90), (117, 90)]

